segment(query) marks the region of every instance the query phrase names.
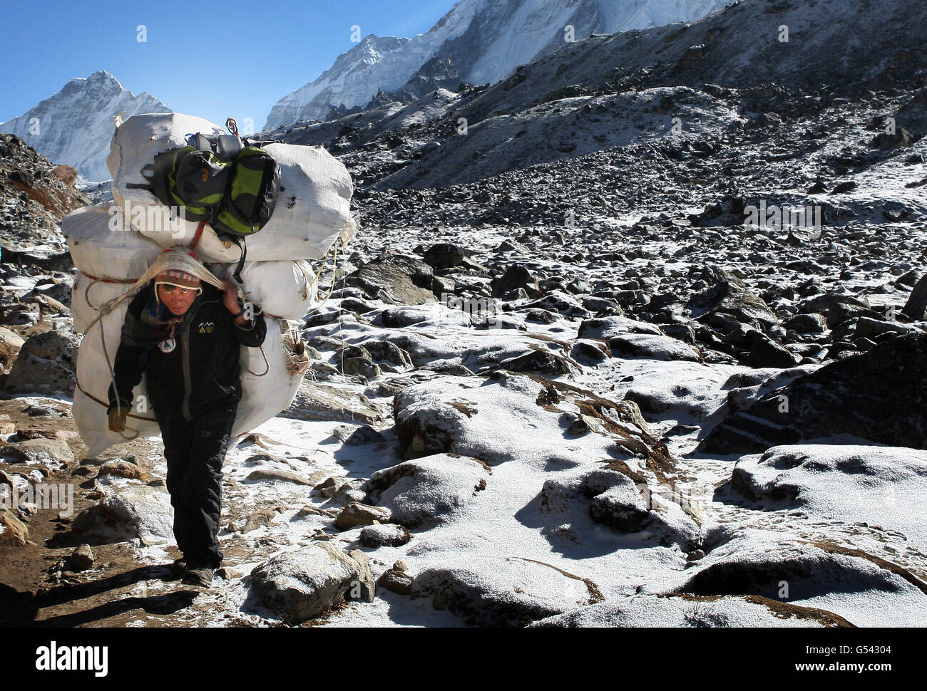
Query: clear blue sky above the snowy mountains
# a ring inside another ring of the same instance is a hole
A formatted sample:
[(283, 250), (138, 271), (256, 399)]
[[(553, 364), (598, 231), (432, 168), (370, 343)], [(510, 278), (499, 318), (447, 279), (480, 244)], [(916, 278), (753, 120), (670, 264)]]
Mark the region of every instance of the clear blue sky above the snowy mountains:
[[(123, 88), (222, 125), (254, 119), (318, 77), (361, 35), (428, 31), (455, 0), (340, 2), (7, 3), (0, 23), (0, 122), (55, 94), (70, 79), (106, 69)], [(139, 25), (146, 42), (137, 40)]]

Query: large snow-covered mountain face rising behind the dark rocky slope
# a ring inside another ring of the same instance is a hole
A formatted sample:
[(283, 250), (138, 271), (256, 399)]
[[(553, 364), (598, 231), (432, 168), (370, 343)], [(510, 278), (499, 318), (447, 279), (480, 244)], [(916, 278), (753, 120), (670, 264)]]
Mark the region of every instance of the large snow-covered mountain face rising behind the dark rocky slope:
[(465, 82), (497, 82), (590, 33), (700, 19), (728, 0), (461, 0), (429, 31), (413, 38), (368, 35), (318, 79), (280, 99), (264, 125), (326, 119), (333, 107), (364, 106), (379, 90), (400, 89), (433, 57), (450, 60)]

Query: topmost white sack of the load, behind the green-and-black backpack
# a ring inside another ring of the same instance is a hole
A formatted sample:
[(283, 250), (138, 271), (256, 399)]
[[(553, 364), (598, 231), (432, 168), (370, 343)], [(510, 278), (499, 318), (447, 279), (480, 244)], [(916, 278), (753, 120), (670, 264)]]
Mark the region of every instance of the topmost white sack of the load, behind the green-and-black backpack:
[[(221, 132), (209, 120), (179, 113), (136, 115), (123, 122), (113, 135), (107, 159), (113, 175), (113, 199), (127, 211), (133, 226), (159, 245), (190, 245), (198, 223), (171, 220), (168, 207), (144, 189), (141, 170), (155, 155), (185, 144), (186, 134)], [(340, 236), (348, 242), (356, 231), (350, 218), (353, 184), (348, 170), (321, 146), (267, 144), (265, 150), (280, 165), (280, 195), (271, 220), (248, 237), (248, 260), (324, 258)], [(197, 244), (207, 261), (238, 260), (241, 251), (222, 241), (209, 224)]]

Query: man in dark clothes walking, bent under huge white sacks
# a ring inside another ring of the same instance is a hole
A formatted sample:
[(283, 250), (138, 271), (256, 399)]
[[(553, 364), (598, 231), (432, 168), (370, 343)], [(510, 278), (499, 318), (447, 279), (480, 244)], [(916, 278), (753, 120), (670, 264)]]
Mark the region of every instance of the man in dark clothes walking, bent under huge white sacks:
[[(222, 564), (222, 462), (241, 399), (239, 349), (259, 347), (267, 326), (185, 251), (168, 251), (162, 270), (133, 298), (109, 387), (109, 429), (123, 432), (133, 388), (147, 371), (147, 395), (164, 441), (173, 533), (184, 584), (208, 587)], [(223, 289), (219, 286), (222, 285)]]

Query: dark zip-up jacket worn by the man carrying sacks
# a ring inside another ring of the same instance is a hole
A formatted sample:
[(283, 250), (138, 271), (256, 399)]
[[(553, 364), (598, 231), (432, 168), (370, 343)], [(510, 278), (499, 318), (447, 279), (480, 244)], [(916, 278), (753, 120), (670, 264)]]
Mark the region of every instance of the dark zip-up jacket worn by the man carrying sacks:
[[(254, 327), (235, 324), (232, 314), (222, 304), (222, 291), (203, 284), (178, 325), (174, 347), (164, 352), (159, 345), (127, 345), (126, 329), (140, 319), (149, 305), (154, 287), (149, 283), (129, 304), (122, 342), (116, 352), (113, 371), (122, 405), (132, 407), (132, 390), (147, 371), (148, 397), (152, 408), (176, 407), (186, 421), (223, 404), (241, 399), (241, 379), (238, 355), (240, 345), (257, 347), (264, 342), (267, 324), (263, 315), (256, 315)], [(131, 315), (131, 316), (130, 316)], [(109, 407), (116, 404), (112, 384), (109, 386)]]

